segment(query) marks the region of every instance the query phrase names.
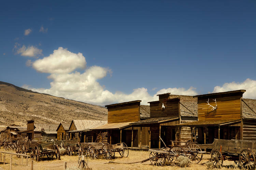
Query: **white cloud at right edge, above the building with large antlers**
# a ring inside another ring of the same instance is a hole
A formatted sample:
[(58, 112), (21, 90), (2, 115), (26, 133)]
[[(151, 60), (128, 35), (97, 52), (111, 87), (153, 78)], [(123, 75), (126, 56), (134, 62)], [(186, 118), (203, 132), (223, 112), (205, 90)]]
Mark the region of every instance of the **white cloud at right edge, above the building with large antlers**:
[(246, 79), (244, 82), (231, 82), (215, 86), (213, 93), (232, 90), (246, 90), (243, 98), (256, 99), (256, 80)]

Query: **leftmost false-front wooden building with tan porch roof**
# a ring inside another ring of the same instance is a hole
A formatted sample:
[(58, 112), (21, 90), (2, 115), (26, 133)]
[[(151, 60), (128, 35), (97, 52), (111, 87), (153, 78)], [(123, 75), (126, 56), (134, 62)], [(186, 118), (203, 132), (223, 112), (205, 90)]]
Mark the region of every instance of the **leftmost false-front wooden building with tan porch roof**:
[[(150, 116), (149, 106), (140, 105), (141, 100), (106, 105), (108, 108), (108, 123), (96, 128), (91, 128), (97, 135), (98, 142), (120, 143), (125, 142), (131, 147), (132, 141), (138, 141), (141, 129), (136, 128), (137, 133), (132, 134), (130, 123), (145, 120)], [(143, 134), (146, 129), (142, 129)], [(132, 140), (133, 136), (133, 140)], [(138, 142), (137, 142), (138, 143)]]

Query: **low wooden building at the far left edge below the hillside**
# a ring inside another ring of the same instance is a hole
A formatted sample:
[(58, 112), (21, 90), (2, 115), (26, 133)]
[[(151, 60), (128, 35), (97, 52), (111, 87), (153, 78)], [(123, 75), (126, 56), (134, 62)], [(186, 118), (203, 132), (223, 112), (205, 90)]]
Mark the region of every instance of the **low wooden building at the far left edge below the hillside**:
[(6, 126), (1, 129), (1, 140), (17, 137), (17, 132), (24, 131), (26, 127), (22, 126)]

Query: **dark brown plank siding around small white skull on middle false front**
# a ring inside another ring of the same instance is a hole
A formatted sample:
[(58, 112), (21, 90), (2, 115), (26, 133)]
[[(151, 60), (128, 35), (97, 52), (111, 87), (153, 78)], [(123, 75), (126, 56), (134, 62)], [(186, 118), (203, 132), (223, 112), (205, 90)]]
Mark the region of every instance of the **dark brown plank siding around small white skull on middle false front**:
[[(162, 108), (162, 104), (165, 108)], [(179, 117), (179, 100), (160, 100), (150, 103), (150, 118)]]

